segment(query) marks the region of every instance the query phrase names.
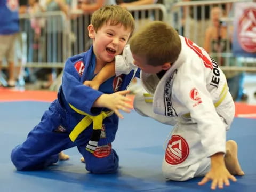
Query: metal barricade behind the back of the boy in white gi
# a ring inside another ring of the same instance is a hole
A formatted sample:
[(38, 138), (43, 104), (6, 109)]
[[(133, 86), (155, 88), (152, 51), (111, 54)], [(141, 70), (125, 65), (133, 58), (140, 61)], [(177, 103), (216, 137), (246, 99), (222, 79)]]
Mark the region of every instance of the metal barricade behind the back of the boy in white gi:
[[(217, 62), (224, 63), (220, 67), (224, 71), (253, 71), (256, 72), (256, 59), (249, 57), (235, 57), (231, 50), (233, 31), (233, 3), (241, 2), (239, 0), (224, 1), (189, 1), (171, 4), (171, 1), (165, 0), (169, 22), (180, 35), (183, 35), (201, 47), (204, 47), (206, 28), (211, 25), (211, 9), (215, 6), (224, 9), (225, 17), (221, 18), (222, 25), (227, 26), (227, 34), (230, 38), (221, 42), (226, 47), (221, 52), (214, 52), (211, 46), (210, 55)], [(251, 2), (251, 1), (244, 1)], [(224, 8), (223, 8), (224, 7)], [(229, 21), (229, 22), (226, 22)]]

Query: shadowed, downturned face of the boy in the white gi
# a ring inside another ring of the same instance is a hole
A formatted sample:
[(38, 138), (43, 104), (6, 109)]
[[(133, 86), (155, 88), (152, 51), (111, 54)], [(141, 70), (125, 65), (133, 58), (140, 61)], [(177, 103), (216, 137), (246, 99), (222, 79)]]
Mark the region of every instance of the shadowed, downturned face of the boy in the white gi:
[(141, 57), (139, 55), (133, 54), (132, 57), (134, 59), (133, 63), (135, 66), (139, 67), (142, 71), (149, 74), (157, 74), (162, 70), (168, 70), (171, 67), (170, 63), (164, 63), (159, 66), (148, 65), (146, 57)]

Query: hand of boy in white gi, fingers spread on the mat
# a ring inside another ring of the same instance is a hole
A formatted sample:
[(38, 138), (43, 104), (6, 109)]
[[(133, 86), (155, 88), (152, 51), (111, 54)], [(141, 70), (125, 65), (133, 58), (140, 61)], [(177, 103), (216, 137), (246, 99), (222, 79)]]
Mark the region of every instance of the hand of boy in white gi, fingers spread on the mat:
[[(217, 156), (219, 154), (216, 154)], [(223, 155), (222, 155), (223, 156)], [(219, 161), (219, 160), (218, 160)], [(223, 189), (223, 185), (229, 186), (229, 179), (236, 181), (236, 178), (229, 173), (225, 163), (220, 162), (211, 162), (211, 170), (205, 175), (205, 177), (198, 183), (198, 185), (204, 185), (209, 180), (212, 180), (211, 189), (216, 189), (218, 186), (220, 189)]]

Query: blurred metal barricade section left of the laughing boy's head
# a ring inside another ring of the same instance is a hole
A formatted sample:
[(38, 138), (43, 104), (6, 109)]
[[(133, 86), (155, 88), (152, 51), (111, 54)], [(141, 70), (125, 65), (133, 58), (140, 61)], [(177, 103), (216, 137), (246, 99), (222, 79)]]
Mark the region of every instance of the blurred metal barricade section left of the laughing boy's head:
[(69, 56), (69, 26), (63, 12), (22, 14), (20, 31), (27, 36), (26, 67), (63, 67)]

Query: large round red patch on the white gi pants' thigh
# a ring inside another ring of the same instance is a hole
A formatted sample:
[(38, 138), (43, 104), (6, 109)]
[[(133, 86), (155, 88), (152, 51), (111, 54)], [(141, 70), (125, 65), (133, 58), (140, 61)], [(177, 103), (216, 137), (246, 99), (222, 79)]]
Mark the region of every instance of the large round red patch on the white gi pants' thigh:
[(172, 135), (165, 151), (165, 161), (171, 165), (177, 165), (185, 161), (188, 154), (187, 141), (180, 135)]

